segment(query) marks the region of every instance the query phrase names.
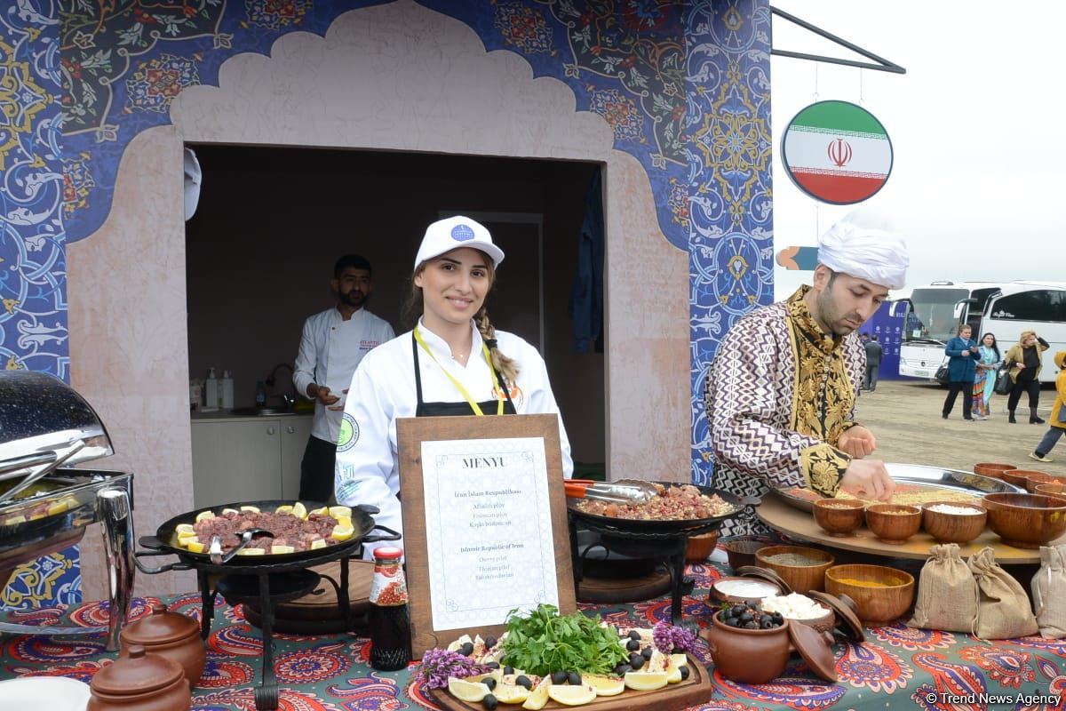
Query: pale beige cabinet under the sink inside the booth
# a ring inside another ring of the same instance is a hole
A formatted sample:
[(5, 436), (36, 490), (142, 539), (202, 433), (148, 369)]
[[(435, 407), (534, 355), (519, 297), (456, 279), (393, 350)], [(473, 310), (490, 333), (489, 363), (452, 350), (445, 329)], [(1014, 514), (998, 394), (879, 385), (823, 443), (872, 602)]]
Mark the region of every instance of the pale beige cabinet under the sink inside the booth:
[(295, 500), (310, 416), (193, 420), (193, 502)]

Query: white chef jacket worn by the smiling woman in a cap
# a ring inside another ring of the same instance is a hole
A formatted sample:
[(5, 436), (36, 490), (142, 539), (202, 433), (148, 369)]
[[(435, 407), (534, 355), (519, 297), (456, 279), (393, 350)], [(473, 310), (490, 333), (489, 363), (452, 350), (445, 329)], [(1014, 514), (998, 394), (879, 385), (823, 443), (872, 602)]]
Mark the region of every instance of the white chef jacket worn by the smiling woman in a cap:
[[(462, 402), (463, 395), (443, 374), (463, 384), (474, 402), (496, 400), (496, 384), (491, 368), (481, 350), (481, 333), (473, 322), (471, 356), (466, 367), (452, 358), (445, 339), (429, 330), (421, 321), (418, 333), (433, 352), (436, 361), (418, 346), (422, 375), (423, 402)], [(501, 353), (518, 362), (518, 378), (511, 388), (511, 400), (518, 415), (555, 413), (559, 405), (548, 383), (544, 358), (524, 340), (503, 330), (496, 332)], [(371, 504), (381, 508), (374, 520), (393, 531), (403, 532), (400, 513), (400, 465), (397, 450), (397, 418), (415, 417), (418, 394), (415, 390), (415, 359), (411, 353), (411, 332), (403, 334), (368, 353), (352, 377), (344, 405), (344, 437), (337, 443), (337, 469), (334, 483), (338, 503), (353, 506)], [(496, 409), (492, 409), (495, 415)], [(566, 437), (563, 419), (559, 419), (559, 441), (562, 445), (563, 476), (574, 474), (570, 440)], [(383, 546), (403, 545), (383, 543)], [(371, 558), (375, 545), (366, 546), (365, 556)]]

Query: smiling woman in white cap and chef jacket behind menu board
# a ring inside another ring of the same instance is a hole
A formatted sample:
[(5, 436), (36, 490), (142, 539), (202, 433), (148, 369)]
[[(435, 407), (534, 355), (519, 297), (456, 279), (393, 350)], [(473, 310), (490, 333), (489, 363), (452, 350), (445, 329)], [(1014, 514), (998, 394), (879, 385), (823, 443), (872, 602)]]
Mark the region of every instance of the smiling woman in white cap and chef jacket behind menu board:
[[(469, 217), (426, 228), (408, 302), (411, 311), (422, 302), (422, 317), (414, 330), (368, 353), (352, 376), (337, 442), (339, 503), (377, 506), (377, 523), (403, 530), (397, 418), (559, 414), (537, 350), (488, 321), (485, 296), (502, 261), (492, 236)], [(559, 439), (569, 479), (562, 418)]]

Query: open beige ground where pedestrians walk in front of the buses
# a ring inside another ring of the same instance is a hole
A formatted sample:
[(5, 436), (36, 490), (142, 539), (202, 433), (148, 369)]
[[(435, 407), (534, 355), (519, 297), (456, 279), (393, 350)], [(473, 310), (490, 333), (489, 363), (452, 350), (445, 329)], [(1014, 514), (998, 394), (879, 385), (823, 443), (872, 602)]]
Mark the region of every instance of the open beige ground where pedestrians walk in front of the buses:
[[(1016, 417), (1006, 421), (1006, 398), (994, 395), (991, 419), (963, 420), (963, 398), (955, 402), (951, 419), (941, 419), (947, 389), (921, 381), (882, 381), (874, 392), (862, 392), (855, 419), (877, 437), (877, 451), (886, 462), (925, 464), (971, 470), (978, 462), (1003, 462), (1019, 469), (1034, 469), (1066, 475), (1066, 435), (1049, 455), (1054, 462), (1033, 462), (1028, 454), (1047, 432), (1047, 424), (1029, 424), (1028, 401)], [(1040, 391), (1038, 414), (1045, 420), (1055, 400), (1055, 391)], [(1022, 417), (1024, 414), (1024, 417)]]

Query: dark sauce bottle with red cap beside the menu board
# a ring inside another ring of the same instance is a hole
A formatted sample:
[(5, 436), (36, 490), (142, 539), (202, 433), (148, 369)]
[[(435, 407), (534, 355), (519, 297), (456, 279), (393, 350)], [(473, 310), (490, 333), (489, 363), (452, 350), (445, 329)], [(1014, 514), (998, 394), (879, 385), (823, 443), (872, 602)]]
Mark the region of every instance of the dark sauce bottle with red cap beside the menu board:
[(407, 582), (400, 559), (403, 549), (374, 549), (374, 578), (370, 583), (370, 665), (381, 672), (402, 669), (410, 662), (410, 616)]

